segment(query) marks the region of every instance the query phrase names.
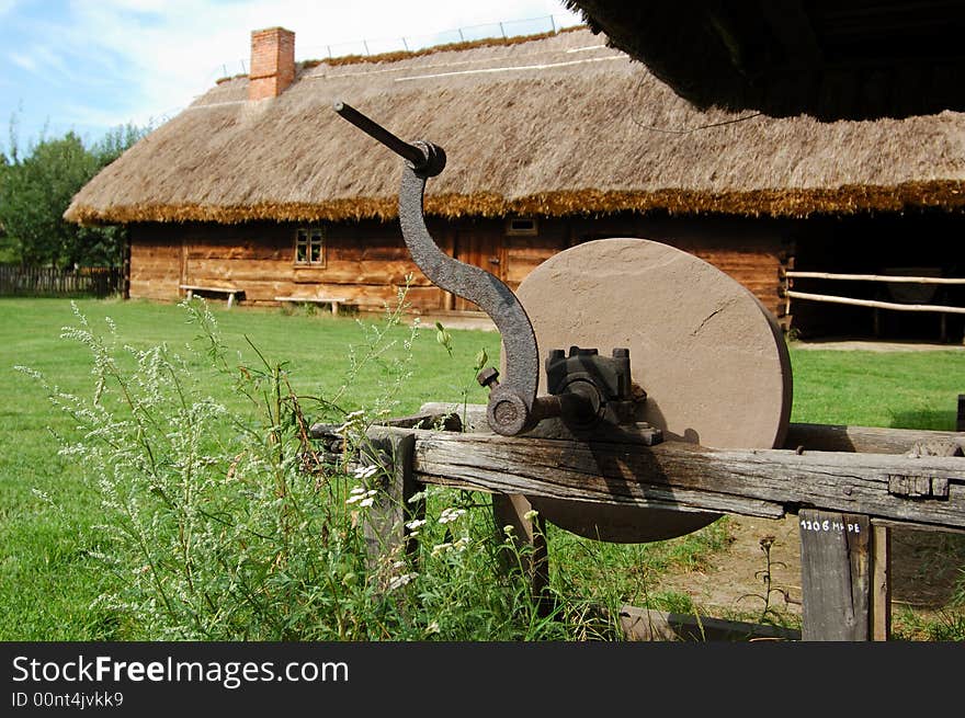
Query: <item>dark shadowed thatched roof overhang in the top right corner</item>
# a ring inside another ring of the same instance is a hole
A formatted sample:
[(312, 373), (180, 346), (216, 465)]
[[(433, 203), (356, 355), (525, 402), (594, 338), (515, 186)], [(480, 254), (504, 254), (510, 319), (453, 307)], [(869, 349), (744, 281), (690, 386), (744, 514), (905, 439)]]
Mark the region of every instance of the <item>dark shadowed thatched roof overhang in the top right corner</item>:
[(566, 0), (697, 107), (867, 119), (965, 111), (965, 3)]

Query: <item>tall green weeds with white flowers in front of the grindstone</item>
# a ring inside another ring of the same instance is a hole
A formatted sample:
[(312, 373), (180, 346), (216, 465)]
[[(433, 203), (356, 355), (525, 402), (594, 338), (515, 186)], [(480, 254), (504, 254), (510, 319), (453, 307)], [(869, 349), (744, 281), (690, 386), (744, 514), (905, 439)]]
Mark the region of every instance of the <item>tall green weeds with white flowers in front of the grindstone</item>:
[[(197, 341), (174, 351), (121, 343), (75, 306), (63, 338), (91, 357), (87, 395), (67, 394), (31, 369), (73, 420), (60, 453), (83, 467), (102, 521), (86, 544), (109, 577), (98, 599), (130, 639), (516, 640), (587, 635), (587, 611), (557, 596), (546, 616), (521, 571), (503, 570), (489, 505), (428, 487), (424, 518), (410, 522), (412, 554), (373, 560), (364, 525), (384, 466), (353, 460), (367, 429), (391, 413), (410, 377), (415, 324), (396, 345), (405, 294), (381, 326), (362, 324), (345, 381), (333, 396), (293, 388), (284, 363), (259, 347), (231, 357), (204, 300), (184, 303)], [(361, 322), (360, 322), (361, 324)], [(400, 352), (398, 350), (401, 350)], [(384, 391), (345, 411), (353, 380), (376, 371)], [(243, 410), (213, 396), (230, 379)], [(339, 456), (319, 451), (308, 417), (342, 434)], [(519, 557), (524, 565), (524, 557)], [(576, 616), (576, 624), (570, 620)], [(595, 631), (595, 629), (594, 629)], [(599, 631), (597, 631), (599, 632)]]

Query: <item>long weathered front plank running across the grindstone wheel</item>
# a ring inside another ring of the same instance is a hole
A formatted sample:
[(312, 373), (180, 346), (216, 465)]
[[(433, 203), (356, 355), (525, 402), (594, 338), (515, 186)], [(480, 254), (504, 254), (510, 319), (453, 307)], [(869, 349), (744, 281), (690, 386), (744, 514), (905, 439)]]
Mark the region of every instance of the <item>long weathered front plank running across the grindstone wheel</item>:
[[(965, 528), (961, 457), (652, 447), (417, 432), (417, 475), (502, 493), (780, 517), (799, 508)], [(947, 497), (894, 495), (892, 476), (946, 479)]]

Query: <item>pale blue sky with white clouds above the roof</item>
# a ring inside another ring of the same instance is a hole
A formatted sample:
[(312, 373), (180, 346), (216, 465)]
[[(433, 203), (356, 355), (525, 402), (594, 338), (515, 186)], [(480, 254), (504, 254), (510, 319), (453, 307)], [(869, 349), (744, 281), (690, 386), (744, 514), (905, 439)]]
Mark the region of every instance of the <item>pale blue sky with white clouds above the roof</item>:
[(156, 127), (247, 71), (252, 30), (294, 31), (303, 60), (580, 21), (563, 0), (0, 0), (0, 151)]

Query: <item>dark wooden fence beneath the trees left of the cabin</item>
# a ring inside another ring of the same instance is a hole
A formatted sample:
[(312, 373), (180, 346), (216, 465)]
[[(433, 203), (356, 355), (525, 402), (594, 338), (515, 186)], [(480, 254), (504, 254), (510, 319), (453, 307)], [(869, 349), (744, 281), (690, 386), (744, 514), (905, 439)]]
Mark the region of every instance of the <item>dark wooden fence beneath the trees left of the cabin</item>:
[(0, 265), (0, 296), (106, 297), (121, 292), (123, 282), (124, 272), (120, 266), (58, 270), (52, 266)]

